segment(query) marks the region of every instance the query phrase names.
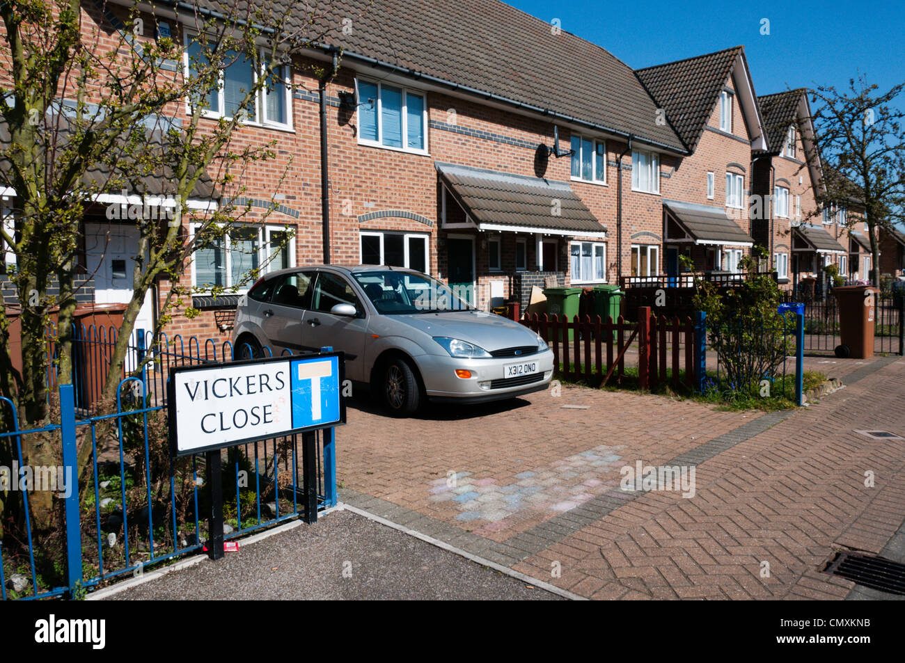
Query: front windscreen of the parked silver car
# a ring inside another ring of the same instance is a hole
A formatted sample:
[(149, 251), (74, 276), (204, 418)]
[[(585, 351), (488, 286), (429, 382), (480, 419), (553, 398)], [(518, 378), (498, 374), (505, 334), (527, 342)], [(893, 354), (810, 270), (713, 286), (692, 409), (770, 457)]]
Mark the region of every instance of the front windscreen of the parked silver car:
[(354, 276), (377, 312), (383, 315), (475, 310), (443, 283), (425, 274), (375, 270)]

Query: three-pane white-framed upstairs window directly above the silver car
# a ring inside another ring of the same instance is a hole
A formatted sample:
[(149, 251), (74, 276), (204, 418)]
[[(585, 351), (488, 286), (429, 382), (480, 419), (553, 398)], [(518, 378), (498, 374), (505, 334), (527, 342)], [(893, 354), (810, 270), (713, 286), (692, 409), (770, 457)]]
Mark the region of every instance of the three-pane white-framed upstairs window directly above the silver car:
[[(427, 151), (424, 94), (383, 82), (357, 81), (358, 141), (405, 150)], [(368, 103), (367, 99), (373, 99)]]

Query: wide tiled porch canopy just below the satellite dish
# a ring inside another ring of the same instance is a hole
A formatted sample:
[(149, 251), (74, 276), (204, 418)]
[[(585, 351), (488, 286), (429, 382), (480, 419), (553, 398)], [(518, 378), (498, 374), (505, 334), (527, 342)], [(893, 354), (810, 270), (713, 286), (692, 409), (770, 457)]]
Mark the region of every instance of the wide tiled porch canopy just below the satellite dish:
[(566, 182), (439, 162), (435, 166), (479, 231), (606, 236), (605, 226)]

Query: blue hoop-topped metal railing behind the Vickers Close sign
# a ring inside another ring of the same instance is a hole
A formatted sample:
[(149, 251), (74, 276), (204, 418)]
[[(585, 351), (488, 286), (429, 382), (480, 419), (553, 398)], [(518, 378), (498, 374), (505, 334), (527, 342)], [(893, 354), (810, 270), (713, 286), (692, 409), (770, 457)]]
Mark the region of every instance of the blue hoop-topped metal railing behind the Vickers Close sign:
[[(29, 496), (33, 488), (48, 487), (33, 485), (8, 493), (21, 494), (22, 508), (15, 509), (21, 514), (19, 525), (4, 522), (2, 531), (8, 534), (0, 537), (3, 600), (73, 595), (80, 588), (88, 589), (127, 573), (143, 573), (149, 564), (203, 547), (201, 518), (206, 496), (198, 478), (204, 455), (172, 459), (168, 453), (167, 436), (161, 433), (166, 431), (167, 376), (176, 365), (232, 361), (232, 344), (218, 344), (210, 338), (202, 344), (195, 336), (186, 343), (178, 335), (172, 340), (164, 335), (157, 344), (151, 344), (150, 336), (138, 330), (129, 344), (116, 392), (116, 410), (105, 413), (100, 396), (110, 369), (116, 330), (81, 327), (77, 331), (73, 354), (80, 359), (73, 366), (73, 384), (58, 385), (55, 390), (60, 398), (59, 424), (19, 430), (14, 403), (0, 397), (8, 406), (11, 428), (0, 433), (0, 441), (13, 440), (20, 468), (25, 467), (24, 437), (51, 436), (61, 450), (63, 476), (69, 472), (75, 481), (79, 477), (80, 445), (90, 445), (90, 466), (74, 486), (69, 484), (69, 495), (62, 497), (62, 551), (35, 547)], [(252, 348), (247, 349), (251, 353)], [(272, 355), (270, 348), (266, 348), (266, 354)], [(317, 435), (317, 494), (322, 509), (337, 504), (335, 434), (333, 429), (326, 429)], [(225, 538), (304, 515), (304, 500), (298, 499), (301, 454), (296, 450), (297, 442), (296, 436), (285, 436), (229, 450), (233, 462), (225, 471), (234, 473), (234, 486), (230, 487), (234, 492), (230, 495), (230, 488), (226, 488), (224, 502), (230, 509), (226, 521), (234, 526)], [(271, 507), (269, 514), (264, 513), (266, 507)], [(22, 537), (15, 534), (20, 530)], [(42, 569), (53, 564), (39, 564), (36, 558), (62, 562), (65, 577), (46, 577)], [(6, 582), (15, 573), (26, 576), (28, 589), (11, 596)]]

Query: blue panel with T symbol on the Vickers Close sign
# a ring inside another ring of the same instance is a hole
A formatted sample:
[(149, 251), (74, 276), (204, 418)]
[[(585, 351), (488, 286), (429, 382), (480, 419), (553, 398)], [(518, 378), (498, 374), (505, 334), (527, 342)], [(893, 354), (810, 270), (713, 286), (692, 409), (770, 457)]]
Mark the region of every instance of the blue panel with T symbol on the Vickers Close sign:
[(339, 421), (339, 360), (335, 356), (291, 362), (292, 428)]

